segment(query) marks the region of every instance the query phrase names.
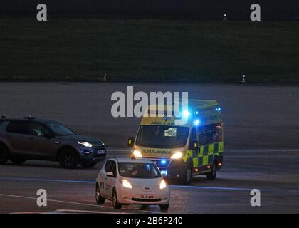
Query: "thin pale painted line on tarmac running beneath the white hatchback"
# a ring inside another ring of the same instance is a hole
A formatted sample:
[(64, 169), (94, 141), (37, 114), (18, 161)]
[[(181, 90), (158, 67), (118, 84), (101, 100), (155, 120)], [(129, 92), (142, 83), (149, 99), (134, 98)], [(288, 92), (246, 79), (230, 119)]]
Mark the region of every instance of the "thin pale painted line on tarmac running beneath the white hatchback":
[[(0, 193), (0, 196), (36, 200), (35, 197), (26, 197), (26, 196), (23, 196), (23, 195), (9, 195), (9, 194)], [(80, 205), (80, 206), (90, 206), (90, 207), (100, 207), (100, 208), (104, 208), (104, 209), (112, 209), (112, 207), (100, 206), (100, 205), (95, 205), (95, 204), (86, 204), (86, 203), (81, 203), (81, 202), (70, 202), (70, 201), (57, 200), (57, 199), (47, 199), (47, 200), (49, 202), (60, 202), (60, 203), (65, 203), (65, 204), (75, 204), (75, 205)], [(163, 212), (152, 212), (152, 211), (145, 211), (145, 210), (132, 210), (132, 209), (122, 209), (122, 210), (127, 210), (127, 211), (131, 211), (131, 212), (147, 212), (147, 213), (151, 213), (151, 214), (167, 214), (167, 213), (163, 213)], [(116, 212), (116, 214), (128, 214), (128, 213)]]

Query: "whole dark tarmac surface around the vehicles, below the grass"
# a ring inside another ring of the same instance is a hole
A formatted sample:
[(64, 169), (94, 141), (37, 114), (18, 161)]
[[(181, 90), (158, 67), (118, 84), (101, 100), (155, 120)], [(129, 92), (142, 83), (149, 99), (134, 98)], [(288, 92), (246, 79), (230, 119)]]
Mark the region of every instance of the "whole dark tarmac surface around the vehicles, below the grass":
[[(110, 96), (123, 83), (0, 83), (0, 115), (36, 115), (60, 120), (78, 133), (95, 135), (109, 155), (127, 155), (137, 118), (112, 118)], [(170, 213), (298, 213), (299, 93), (295, 86), (229, 84), (136, 84), (135, 91), (189, 91), (189, 98), (215, 99), (225, 125), (224, 167), (215, 181), (195, 177), (171, 187)], [(117, 152), (113, 152), (117, 150)], [(115, 212), (95, 204), (100, 165), (63, 170), (55, 162), (0, 166), (0, 212), (55, 212), (58, 209)], [(48, 192), (48, 207), (37, 207), (36, 191)], [(251, 207), (250, 190), (261, 190), (261, 207)], [(124, 207), (116, 212), (160, 212), (159, 207)]]

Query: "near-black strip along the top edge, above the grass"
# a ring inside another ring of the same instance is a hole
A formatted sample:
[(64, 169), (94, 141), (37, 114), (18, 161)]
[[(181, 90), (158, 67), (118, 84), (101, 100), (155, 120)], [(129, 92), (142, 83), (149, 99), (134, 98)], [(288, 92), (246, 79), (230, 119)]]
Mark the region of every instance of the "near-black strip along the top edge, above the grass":
[(263, 20), (298, 20), (298, 0), (1, 0), (1, 15), (36, 14), (46, 4), (49, 16), (172, 16), (198, 19), (249, 19), (250, 6), (261, 5)]

